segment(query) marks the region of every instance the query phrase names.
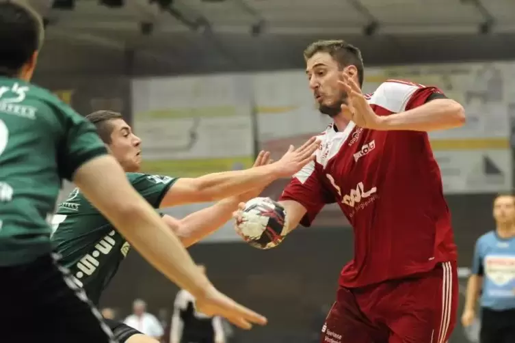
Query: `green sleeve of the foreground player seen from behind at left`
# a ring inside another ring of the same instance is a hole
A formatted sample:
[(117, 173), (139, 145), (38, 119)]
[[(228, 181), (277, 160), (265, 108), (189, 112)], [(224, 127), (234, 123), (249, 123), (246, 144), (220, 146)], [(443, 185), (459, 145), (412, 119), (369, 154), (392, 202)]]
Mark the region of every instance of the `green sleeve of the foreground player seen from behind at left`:
[(107, 154), (107, 150), (92, 123), (64, 103), (60, 104), (60, 109), (66, 128), (64, 141), (59, 144), (60, 174), (71, 181), (81, 165), (96, 156)]

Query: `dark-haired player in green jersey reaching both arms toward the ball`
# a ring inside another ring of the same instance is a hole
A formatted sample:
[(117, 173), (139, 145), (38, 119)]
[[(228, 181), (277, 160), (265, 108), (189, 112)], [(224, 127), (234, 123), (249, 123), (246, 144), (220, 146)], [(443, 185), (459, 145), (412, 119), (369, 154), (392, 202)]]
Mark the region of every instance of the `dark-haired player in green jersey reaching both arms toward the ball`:
[[(269, 154), (261, 152), (254, 168), (208, 174), (199, 178), (140, 174), (137, 171), (142, 161), (141, 140), (131, 131), (122, 115), (112, 111), (97, 111), (86, 118), (95, 124), (109, 152), (127, 172), (129, 182), (154, 208), (209, 202), (233, 196), (181, 220), (163, 215), (163, 220), (186, 247), (228, 221), (239, 202), (256, 197), (263, 187), (277, 178), (298, 172), (311, 161), (311, 155), (317, 149), (317, 143), (310, 139), (297, 150), (290, 148), (275, 163), (269, 164)], [(68, 199), (60, 204), (53, 217), (53, 229), (52, 241), (62, 255), (62, 262), (70, 269), (75, 282), (98, 305), (102, 291), (127, 255), (129, 243), (85, 200), (78, 189), (72, 191)], [(156, 342), (123, 323), (113, 320), (107, 320), (107, 323), (120, 343)]]

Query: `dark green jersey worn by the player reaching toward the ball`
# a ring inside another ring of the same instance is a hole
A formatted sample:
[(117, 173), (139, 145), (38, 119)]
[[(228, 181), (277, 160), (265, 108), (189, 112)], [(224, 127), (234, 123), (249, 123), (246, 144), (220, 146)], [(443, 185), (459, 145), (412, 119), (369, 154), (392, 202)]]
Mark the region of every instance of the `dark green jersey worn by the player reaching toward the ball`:
[[(175, 178), (127, 173), (129, 182), (154, 208)], [(83, 197), (78, 189), (60, 204), (53, 217), (52, 241), (62, 264), (70, 269), (75, 282), (98, 303), (101, 292), (127, 256), (130, 245), (113, 225)]]

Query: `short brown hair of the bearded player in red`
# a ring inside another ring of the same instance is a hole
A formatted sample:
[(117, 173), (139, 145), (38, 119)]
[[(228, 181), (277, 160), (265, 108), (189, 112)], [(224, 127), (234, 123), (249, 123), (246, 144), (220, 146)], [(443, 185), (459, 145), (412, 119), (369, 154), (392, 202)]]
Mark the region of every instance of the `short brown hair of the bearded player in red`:
[(365, 68), (360, 49), (345, 40), (318, 40), (309, 44), (304, 50), (304, 59), (310, 59), (315, 53), (328, 53), (341, 67), (355, 66), (358, 70), (360, 86), (363, 85)]

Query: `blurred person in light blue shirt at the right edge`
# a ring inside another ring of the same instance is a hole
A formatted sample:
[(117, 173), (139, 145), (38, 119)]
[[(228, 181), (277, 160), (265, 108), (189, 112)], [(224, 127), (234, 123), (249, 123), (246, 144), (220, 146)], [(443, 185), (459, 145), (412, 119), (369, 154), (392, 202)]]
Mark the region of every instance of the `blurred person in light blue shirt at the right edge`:
[[(462, 324), (481, 318), (479, 342), (515, 342), (515, 197), (494, 200), (495, 230), (477, 239), (468, 279)], [(481, 294), (481, 299), (479, 295)], [(477, 300), (479, 312), (477, 313)]]

